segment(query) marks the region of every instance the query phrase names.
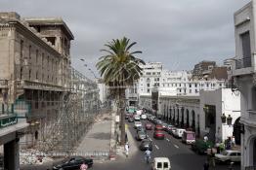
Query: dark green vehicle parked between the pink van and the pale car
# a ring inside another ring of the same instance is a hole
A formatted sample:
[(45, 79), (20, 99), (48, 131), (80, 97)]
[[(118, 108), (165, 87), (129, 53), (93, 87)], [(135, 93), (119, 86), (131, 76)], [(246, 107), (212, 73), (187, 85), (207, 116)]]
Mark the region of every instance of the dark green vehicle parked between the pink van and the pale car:
[(203, 140), (195, 140), (195, 142), (192, 144), (192, 151), (199, 154), (205, 154), (207, 153), (207, 149), (212, 148), (214, 145), (212, 142), (207, 141), (204, 142)]

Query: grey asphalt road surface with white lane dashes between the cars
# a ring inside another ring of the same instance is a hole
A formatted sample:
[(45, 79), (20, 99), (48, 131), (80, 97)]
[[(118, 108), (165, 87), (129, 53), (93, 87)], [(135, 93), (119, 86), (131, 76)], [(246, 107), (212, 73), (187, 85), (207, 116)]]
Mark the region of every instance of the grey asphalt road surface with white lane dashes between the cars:
[[(136, 135), (136, 131), (133, 128), (133, 123), (128, 123), (129, 129), (133, 136)], [(152, 140), (153, 151), (152, 157), (155, 156), (167, 156), (169, 157), (174, 170), (201, 170), (203, 162), (206, 160), (205, 155), (198, 155), (193, 153), (190, 146), (181, 143), (179, 139), (173, 138), (166, 133), (164, 140), (154, 140), (152, 138), (153, 131), (148, 131), (149, 139)], [(138, 147), (140, 142), (137, 142)], [(144, 152), (136, 153), (133, 157), (105, 162), (97, 163), (93, 167), (94, 170), (149, 170), (150, 167), (145, 163)], [(228, 165), (217, 165), (216, 170), (228, 170)], [(235, 165), (235, 170), (238, 170), (239, 165)]]

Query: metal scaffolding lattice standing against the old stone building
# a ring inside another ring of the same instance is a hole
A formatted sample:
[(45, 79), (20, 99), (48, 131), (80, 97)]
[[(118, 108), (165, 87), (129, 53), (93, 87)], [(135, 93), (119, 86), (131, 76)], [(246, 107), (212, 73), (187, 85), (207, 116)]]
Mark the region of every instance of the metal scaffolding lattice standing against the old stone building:
[(71, 68), (69, 88), (64, 91), (58, 117), (48, 129), (39, 149), (72, 152), (100, 112), (98, 85)]

